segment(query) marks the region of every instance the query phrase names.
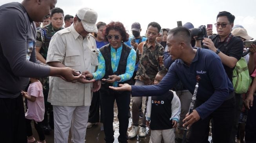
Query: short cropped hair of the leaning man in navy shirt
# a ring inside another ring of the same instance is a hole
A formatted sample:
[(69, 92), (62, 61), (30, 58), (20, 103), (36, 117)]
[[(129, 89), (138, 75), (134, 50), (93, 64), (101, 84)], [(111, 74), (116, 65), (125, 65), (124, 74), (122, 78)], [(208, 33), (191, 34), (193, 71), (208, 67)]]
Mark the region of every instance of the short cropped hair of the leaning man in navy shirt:
[(169, 30), (168, 35), (172, 34), (172, 36), (180, 36), (184, 41), (187, 41), (190, 43), (191, 41), (191, 32), (189, 29), (179, 26), (174, 29)]

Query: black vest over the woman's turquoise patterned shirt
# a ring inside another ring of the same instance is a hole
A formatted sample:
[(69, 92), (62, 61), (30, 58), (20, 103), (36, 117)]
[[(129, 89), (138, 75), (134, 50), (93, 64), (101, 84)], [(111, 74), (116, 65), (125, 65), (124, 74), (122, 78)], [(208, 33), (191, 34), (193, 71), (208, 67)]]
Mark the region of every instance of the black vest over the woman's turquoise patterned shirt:
[[(110, 44), (107, 44), (105, 46), (103, 46), (102, 48), (100, 48), (100, 52), (105, 60), (105, 75), (103, 77), (103, 79), (107, 79), (109, 78), (109, 75), (122, 75), (125, 73), (126, 70), (126, 65), (127, 65), (127, 58), (130, 54), (130, 51), (132, 50), (131, 47), (125, 45), (122, 43), (122, 52), (121, 52), (121, 56), (120, 56), (120, 60), (119, 60), (119, 64), (118, 64), (118, 68), (116, 70), (116, 72), (113, 72), (112, 66), (111, 66), (111, 46)], [(131, 79), (126, 80), (124, 82), (119, 82), (118, 84), (125, 84), (131, 83)], [(112, 86), (113, 84), (111, 83), (107, 83), (107, 82), (102, 82), (102, 86)]]

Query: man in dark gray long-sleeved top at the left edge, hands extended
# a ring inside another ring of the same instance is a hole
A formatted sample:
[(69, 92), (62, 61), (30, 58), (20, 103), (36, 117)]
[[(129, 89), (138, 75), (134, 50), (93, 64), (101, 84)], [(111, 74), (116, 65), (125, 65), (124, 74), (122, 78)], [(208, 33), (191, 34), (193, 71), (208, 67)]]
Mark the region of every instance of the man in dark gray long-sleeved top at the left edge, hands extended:
[(0, 6), (0, 139), (3, 143), (27, 143), (20, 92), (27, 86), (29, 77), (59, 76), (70, 82), (84, 77), (74, 69), (50, 67), (36, 60), (33, 21), (44, 21), (56, 2), (23, 0), (21, 4)]

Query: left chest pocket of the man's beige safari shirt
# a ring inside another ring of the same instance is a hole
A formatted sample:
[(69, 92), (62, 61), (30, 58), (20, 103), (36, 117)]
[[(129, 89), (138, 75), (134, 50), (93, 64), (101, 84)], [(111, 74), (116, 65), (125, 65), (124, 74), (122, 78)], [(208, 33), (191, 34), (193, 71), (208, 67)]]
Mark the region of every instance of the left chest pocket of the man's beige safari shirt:
[(80, 66), (79, 50), (67, 50), (64, 64), (65, 66)]

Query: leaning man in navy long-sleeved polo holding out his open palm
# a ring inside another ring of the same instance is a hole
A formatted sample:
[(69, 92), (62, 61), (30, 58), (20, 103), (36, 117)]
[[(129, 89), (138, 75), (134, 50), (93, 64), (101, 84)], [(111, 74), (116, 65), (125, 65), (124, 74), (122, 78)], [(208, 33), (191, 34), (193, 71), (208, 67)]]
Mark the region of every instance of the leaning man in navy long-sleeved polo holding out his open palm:
[(177, 27), (169, 31), (167, 45), (172, 60), (168, 73), (158, 85), (130, 86), (120, 84), (121, 87), (111, 89), (117, 91), (132, 91), (132, 96), (162, 95), (180, 80), (185, 88), (194, 92), (196, 76), (199, 82), (196, 108), (186, 116), (183, 126), (190, 129), (189, 143), (205, 143), (209, 136), (209, 122), (214, 120), (213, 141), (227, 143), (234, 118), (233, 86), (222, 65), (220, 57), (211, 50), (192, 48), (191, 33), (184, 27)]

